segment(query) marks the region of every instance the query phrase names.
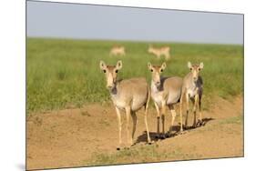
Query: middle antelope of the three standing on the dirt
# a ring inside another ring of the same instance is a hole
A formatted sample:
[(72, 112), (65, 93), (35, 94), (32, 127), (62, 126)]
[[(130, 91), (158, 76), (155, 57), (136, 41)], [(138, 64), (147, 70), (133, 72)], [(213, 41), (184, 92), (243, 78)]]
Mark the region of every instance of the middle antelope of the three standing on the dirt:
[[(179, 98), (181, 95), (182, 78), (179, 76), (172, 77), (160, 77), (160, 74), (166, 68), (166, 63), (162, 65), (151, 65), (148, 63), (148, 69), (151, 71), (151, 97), (154, 100), (155, 107), (157, 109), (157, 122), (158, 122), (158, 137), (165, 138), (165, 113), (166, 106), (169, 107), (170, 113), (172, 115), (171, 126), (169, 129), (169, 135), (172, 131), (172, 126), (176, 117), (176, 112), (174, 105), (179, 103)], [(159, 120), (162, 120), (162, 135), (159, 134)], [(180, 126), (182, 129), (182, 126)]]

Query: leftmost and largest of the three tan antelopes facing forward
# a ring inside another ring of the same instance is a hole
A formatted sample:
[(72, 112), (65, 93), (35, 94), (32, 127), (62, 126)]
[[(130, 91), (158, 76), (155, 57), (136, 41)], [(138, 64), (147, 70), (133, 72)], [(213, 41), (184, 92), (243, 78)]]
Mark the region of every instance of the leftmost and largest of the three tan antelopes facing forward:
[[(145, 107), (145, 125), (148, 134), (148, 144), (151, 143), (149, 133), (148, 133), (148, 102), (150, 99), (150, 89), (146, 78), (130, 78), (125, 80), (118, 80), (118, 70), (122, 68), (122, 62), (118, 61), (117, 65), (106, 65), (103, 61), (99, 63), (100, 69), (106, 75), (107, 88), (109, 90), (111, 99), (116, 107), (116, 112), (118, 116), (118, 127), (119, 127), (119, 146), (122, 144), (121, 141), (121, 116), (120, 110), (124, 110), (127, 116), (127, 137), (128, 137), (128, 146), (133, 145), (133, 136), (135, 133), (137, 125), (137, 116), (136, 112), (141, 107)], [(129, 118), (132, 117), (133, 128), (132, 135), (130, 135), (129, 130)]]

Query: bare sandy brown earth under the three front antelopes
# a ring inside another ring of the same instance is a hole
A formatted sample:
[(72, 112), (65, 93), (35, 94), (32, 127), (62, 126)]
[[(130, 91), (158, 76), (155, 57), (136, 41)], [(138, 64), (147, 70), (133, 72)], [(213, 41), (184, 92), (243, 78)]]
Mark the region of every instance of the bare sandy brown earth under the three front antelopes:
[[(89, 105), (76, 109), (27, 116), (26, 168), (96, 166), (124, 163), (175, 161), (198, 158), (243, 156), (243, 99), (232, 102), (216, 98), (203, 111), (206, 125), (189, 129), (146, 145), (143, 111), (138, 112), (137, 144), (117, 151), (118, 120), (112, 105)], [(179, 110), (177, 110), (179, 114)], [(170, 113), (166, 115), (170, 124)], [(174, 131), (179, 130), (179, 115)], [(189, 126), (192, 114), (189, 115)], [(148, 127), (154, 140), (156, 111), (149, 109)], [(123, 126), (125, 131), (125, 126)], [(123, 132), (123, 141), (126, 139)]]

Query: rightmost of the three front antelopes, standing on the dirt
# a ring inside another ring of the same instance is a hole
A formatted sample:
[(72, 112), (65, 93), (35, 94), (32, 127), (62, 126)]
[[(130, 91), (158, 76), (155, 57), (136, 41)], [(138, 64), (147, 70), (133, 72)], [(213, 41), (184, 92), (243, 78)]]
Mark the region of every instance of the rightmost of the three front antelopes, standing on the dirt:
[[(185, 127), (188, 126), (188, 116), (189, 116), (189, 99), (193, 103), (193, 113), (194, 113), (194, 123), (193, 127), (201, 126), (202, 123), (202, 116), (201, 116), (201, 96), (202, 96), (202, 78), (200, 76), (200, 70), (203, 68), (203, 63), (200, 63), (200, 65), (191, 65), (191, 63), (188, 63), (188, 67), (190, 69), (190, 72), (188, 75), (186, 75), (183, 79), (183, 86), (182, 86), (182, 95), (180, 98), (180, 115), (182, 115), (182, 99), (185, 96), (186, 98), (186, 110), (187, 110), (187, 116), (185, 121)], [(197, 106), (199, 106), (200, 109), (200, 119), (197, 123), (196, 120), (196, 111)], [(182, 125), (182, 122), (180, 122)]]

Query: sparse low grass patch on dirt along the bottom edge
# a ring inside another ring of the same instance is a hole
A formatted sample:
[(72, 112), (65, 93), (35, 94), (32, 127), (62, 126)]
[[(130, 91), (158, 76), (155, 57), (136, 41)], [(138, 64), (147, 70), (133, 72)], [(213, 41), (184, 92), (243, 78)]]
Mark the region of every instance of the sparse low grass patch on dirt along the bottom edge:
[(169, 161), (170, 159), (179, 158), (180, 160), (199, 158), (200, 155), (186, 154), (180, 148), (160, 149), (158, 145), (138, 146), (129, 150), (121, 150), (108, 153), (95, 153), (87, 161), (82, 161), (82, 165), (102, 166), (102, 165), (120, 165), (131, 163), (159, 162)]

